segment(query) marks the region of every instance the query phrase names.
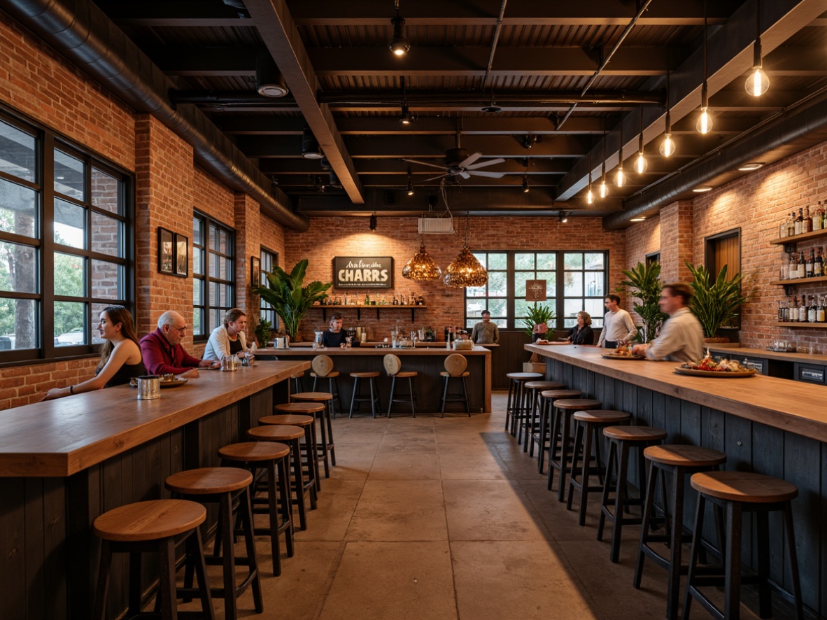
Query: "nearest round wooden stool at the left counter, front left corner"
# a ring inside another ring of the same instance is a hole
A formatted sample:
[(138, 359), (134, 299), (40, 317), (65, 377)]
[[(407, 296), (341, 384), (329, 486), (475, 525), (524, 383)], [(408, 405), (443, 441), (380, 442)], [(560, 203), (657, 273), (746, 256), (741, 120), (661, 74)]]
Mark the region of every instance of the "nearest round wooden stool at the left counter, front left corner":
[(207, 517), (200, 503), (186, 499), (154, 499), (130, 503), (103, 513), (92, 524), (92, 531), (101, 539), (98, 588), (93, 605), (94, 620), (105, 620), (106, 599), (113, 553), (129, 554), (128, 618), (141, 612), (141, 554), (155, 552), (159, 557), (160, 582), (158, 603), (162, 618), (175, 618), (175, 599), (179, 594), (191, 597), (194, 590), (175, 588), (175, 547), (185, 541), (187, 555), (194, 560), (198, 576), (198, 597), (203, 618), (214, 620), (213, 598), (207, 583), (207, 566), (201, 547), (199, 525)]

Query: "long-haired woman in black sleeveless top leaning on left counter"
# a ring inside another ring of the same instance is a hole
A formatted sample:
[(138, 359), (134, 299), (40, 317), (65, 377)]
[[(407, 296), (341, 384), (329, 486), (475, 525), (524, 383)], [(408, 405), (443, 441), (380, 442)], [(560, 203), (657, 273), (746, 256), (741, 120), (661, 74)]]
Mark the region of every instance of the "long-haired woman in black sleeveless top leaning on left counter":
[(127, 308), (107, 306), (98, 318), (98, 331), (105, 342), (101, 347), (101, 359), (95, 369), (95, 376), (77, 385), (52, 388), (45, 393), (43, 400), (127, 384), (131, 377), (146, 374), (132, 315)]

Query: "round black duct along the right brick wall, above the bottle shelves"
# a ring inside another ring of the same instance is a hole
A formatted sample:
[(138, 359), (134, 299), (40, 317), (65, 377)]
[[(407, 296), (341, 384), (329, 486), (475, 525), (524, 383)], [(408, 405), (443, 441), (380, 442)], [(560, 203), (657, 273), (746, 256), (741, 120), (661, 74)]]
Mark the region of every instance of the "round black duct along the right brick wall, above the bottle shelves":
[[(654, 208), (665, 207), (681, 194), (708, 184), (710, 179), (715, 179), (719, 174), (731, 173), (748, 161), (762, 160), (771, 151), (782, 150), (782, 157), (786, 157), (827, 140), (827, 96), (824, 94), (817, 100), (802, 103), (779, 114), (780, 118), (767, 122), (746, 136), (736, 138), (729, 145), (724, 145), (688, 165), (686, 169), (681, 169), (679, 174), (673, 174), (645, 193), (625, 201), (623, 212), (604, 217), (603, 227), (607, 231), (624, 228), (633, 217)], [(808, 139), (804, 141), (805, 138)]]

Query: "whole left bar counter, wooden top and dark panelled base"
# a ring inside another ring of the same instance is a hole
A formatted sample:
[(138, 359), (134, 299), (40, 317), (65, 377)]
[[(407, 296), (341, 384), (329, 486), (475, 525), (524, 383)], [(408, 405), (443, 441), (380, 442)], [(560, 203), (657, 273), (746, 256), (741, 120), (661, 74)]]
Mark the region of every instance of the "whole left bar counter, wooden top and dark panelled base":
[[(230, 373), (201, 370), (156, 400), (139, 401), (123, 385), (0, 412), (0, 618), (88, 620), (95, 517), (169, 497), (170, 474), (219, 465), (218, 448), (286, 401), (284, 379), (308, 368), (260, 361)], [(113, 565), (112, 617), (126, 609), (121, 568)], [(145, 586), (152, 579), (147, 573)]]

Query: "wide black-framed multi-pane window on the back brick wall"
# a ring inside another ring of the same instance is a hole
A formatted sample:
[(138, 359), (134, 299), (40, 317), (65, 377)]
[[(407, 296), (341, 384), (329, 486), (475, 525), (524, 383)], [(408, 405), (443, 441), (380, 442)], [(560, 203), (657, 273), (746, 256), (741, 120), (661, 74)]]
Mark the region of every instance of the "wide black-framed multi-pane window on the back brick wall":
[(488, 308), (491, 321), (504, 329), (519, 329), (530, 302), (526, 282), (545, 280), (545, 302), (557, 315), (557, 328), (573, 327), (577, 312), (586, 310), (593, 327), (603, 327), (606, 294), (605, 251), (548, 250), (542, 252), (474, 252), (488, 269), (488, 284), (466, 289), (466, 327), (480, 320)]

